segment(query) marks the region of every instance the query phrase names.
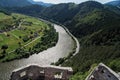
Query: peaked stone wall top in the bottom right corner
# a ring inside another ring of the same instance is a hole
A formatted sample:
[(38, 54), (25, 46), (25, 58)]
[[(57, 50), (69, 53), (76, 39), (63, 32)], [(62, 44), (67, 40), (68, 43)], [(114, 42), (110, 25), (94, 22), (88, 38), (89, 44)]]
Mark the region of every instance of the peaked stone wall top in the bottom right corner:
[(109, 67), (100, 63), (86, 78), (86, 80), (120, 80), (120, 75)]

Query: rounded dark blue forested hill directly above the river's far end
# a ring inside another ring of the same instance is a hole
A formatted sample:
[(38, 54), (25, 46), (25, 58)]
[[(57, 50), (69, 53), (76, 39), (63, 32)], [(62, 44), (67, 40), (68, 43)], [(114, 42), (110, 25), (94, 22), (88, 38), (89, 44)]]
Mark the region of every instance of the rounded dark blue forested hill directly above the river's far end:
[(67, 22), (71, 20), (79, 11), (79, 6), (74, 3), (62, 3), (45, 8), (41, 16), (58, 22)]

